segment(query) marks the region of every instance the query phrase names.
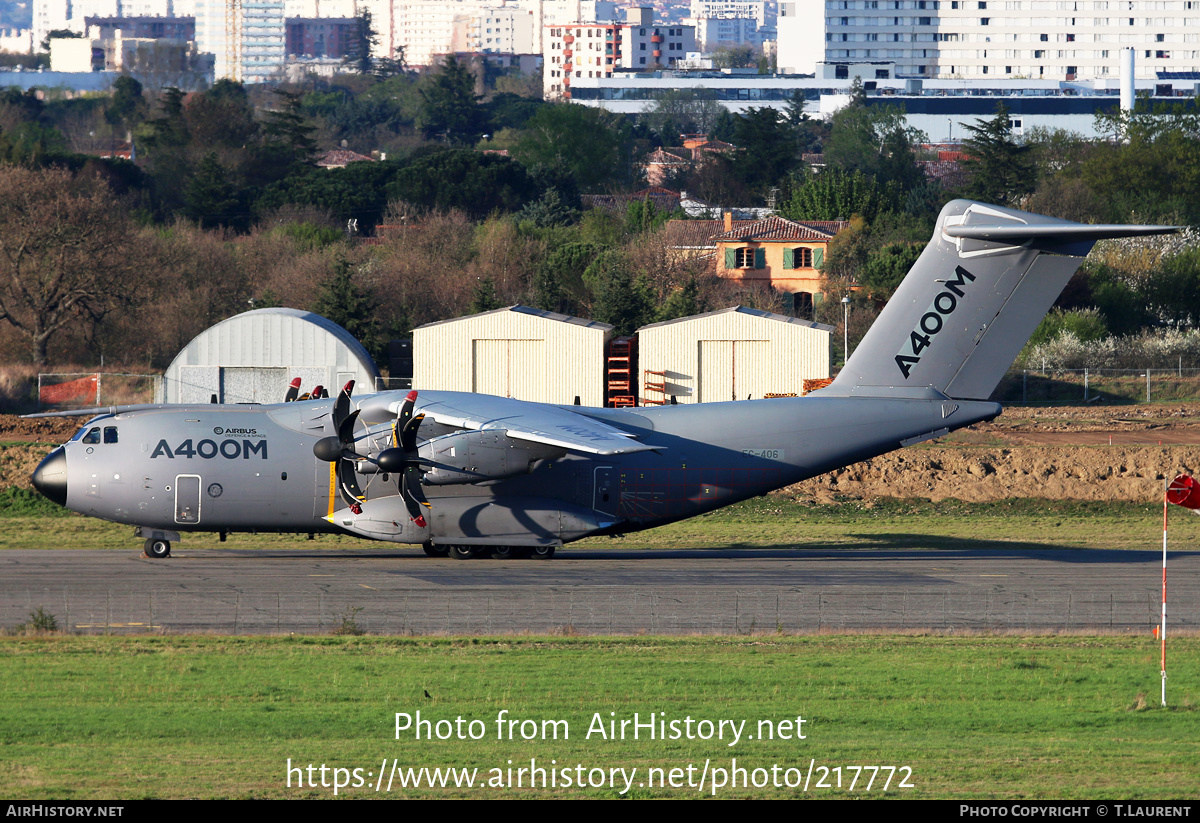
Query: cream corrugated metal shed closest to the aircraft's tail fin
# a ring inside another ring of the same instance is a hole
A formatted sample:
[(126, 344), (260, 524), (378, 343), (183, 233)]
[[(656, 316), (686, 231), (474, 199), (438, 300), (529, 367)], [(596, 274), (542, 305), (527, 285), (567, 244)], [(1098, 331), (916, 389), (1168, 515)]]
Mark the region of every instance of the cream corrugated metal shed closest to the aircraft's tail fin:
[(800, 395), (805, 379), (829, 377), (832, 335), (833, 326), (744, 306), (642, 326), (641, 402)]

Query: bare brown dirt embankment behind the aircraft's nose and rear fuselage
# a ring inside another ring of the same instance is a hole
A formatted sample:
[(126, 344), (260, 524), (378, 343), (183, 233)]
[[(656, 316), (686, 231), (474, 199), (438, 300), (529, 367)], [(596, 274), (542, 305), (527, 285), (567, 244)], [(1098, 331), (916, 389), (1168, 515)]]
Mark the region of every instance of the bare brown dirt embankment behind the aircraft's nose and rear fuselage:
[[(65, 441), (82, 422), (0, 415), (0, 488), (29, 488), (46, 444)], [(1200, 471), (1200, 404), (1009, 408), (938, 444), (856, 463), (782, 493), (818, 501), (1147, 500), (1180, 471)]]

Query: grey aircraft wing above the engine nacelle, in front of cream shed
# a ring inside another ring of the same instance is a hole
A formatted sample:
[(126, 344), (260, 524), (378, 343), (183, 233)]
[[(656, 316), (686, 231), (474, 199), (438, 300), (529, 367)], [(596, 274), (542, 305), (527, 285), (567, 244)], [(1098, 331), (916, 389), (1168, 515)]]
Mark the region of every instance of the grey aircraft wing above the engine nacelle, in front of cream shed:
[[(392, 413), (401, 402), (392, 404)], [(628, 455), (658, 446), (632, 439), (616, 426), (558, 406), (467, 392), (431, 391), (418, 400), (416, 412), (444, 426), (473, 431), (504, 431), (516, 440), (542, 443), (589, 455)]]

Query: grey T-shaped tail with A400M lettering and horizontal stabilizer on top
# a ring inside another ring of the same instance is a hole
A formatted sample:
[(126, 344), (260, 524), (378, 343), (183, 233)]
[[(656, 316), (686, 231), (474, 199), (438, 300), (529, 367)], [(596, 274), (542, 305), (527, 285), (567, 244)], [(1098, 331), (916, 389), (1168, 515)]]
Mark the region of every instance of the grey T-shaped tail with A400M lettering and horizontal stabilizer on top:
[(1170, 226), (1086, 226), (954, 200), (822, 394), (986, 400), (1097, 240)]

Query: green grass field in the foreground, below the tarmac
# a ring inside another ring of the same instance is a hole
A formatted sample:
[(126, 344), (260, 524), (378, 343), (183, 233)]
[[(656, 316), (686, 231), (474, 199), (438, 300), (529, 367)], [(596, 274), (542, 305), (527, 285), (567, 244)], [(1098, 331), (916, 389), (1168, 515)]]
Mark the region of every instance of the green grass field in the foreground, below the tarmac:
[[(634, 797), (707, 797), (714, 777), (724, 798), (878, 797), (883, 776), (868, 793), (870, 771), (859, 773), (851, 792), (854, 770), (845, 767), (894, 765), (911, 768), (912, 788), (898, 786), (901, 773), (888, 797), (1195, 798), (1198, 650), (1198, 639), (1172, 644), (1163, 709), (1152, 638), (8, 637), (0, 639), (0, 782), (7, 797), (61, 800), (332, 797), (331, 786), (298, 787), (295, 773), (288, 788), (290, 758), (293, 767), (361, 769), (368, 785), (340, 797), (386, 797), (374, 789), (385, 758), (389, 771), (392, 761), (474, 768), (481, 781), (494, 768), (508, 775), (509, 761), (515, 770), (536, 759), (570, 768), (572, 779), (576, 764), (584, 775), (606, 770), (606, 781), (608, 769), (636, 769)], [(478, 720), (482, 739), (418, 740), (412, 731), (397, 739), (395, 714), (418, 710), (433, 722)], [(521, 739), (520, 725), (516, 739), (497, 739), (502, 710), (538, 721), (535, 739)], [(648, 740), (644, 731), (638, 740), (588, 738), (595, 714), (607, 722), (635, 711), (643, 721), (664, 713), (680, 723), (746, 722), (732, 746), (728, 726), (712, 740), (686, 739), (685, 725), (680, 739)], [(559, 726), (558, 739), (540, 739), (546, 720), (566, 721), (569, 737)], [(788, 739), (760, 739), (760, 721)], [(797, 732), (805, 739), (792, 739)], [(713, 769), (731, 770), (733, 758), (748, 781), (768, 782), (768, 771), (754, 769), (778, 764), (779, 781), (796, 782), (811, 762), (809, 791), (720, 786)], [(676, 788), (640, 785), (652, 768), (666, 779), (689, 764), (691, 786), (686, 771)], [(842, 787), (829, 773), (832, 787), (817, 788), (818, 767), (839, 765)], [(391, 797), (617, 797), (624, 788), (620, 777), (617, 789), (529, 788), (528, 777), (523, 788), (402, 789), (396, 780)]]

